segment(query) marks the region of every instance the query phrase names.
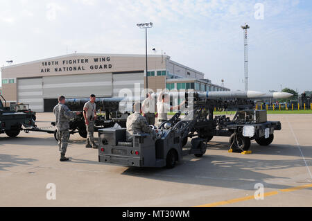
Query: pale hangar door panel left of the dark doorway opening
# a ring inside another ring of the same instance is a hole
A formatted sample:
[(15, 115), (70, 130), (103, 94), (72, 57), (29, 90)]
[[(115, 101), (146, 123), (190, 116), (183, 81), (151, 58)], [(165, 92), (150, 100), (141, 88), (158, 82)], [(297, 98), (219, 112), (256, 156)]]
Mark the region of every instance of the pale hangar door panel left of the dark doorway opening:
[(42, 78), (17, 79), (18, 103), (29, 104), (35, 112), (43, 112)]

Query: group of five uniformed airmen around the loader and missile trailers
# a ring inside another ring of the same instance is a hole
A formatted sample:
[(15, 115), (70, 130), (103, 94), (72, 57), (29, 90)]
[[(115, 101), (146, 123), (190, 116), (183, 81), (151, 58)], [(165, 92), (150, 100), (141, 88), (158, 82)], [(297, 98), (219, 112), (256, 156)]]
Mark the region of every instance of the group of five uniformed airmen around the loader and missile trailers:
[[(143, 103), (135, 103), (133, 106), (134, 113), (128, 116), (126, 123), (126, 139), (128, 142), (132, 142), (132, 136), (134, 134), (146, 133), (155, 139), (156, 133), (150, 125), (155, 125), (155, 118), (157, 118), (157, 126), (163, 122), (168, 121), (167, 112), (177, 110), (185, 104), (185, 101), (180, 105), (172, 107), (169, 105), (169, 95), (160, 92), (157, 98), (157, 114), (155, 114), (155, 100), (151, 92), (147, 94), (147, 98)], [(94, 141), (94, 123), (96, 121), (96, 96), (92, 94), (90, 100), (85, 103), (83, 107), (83, 116), (85, 118), (85, 125), (87, 130), (87, 143), (86, 148), (97, 149)], [(55, 123), (57, 129), (58, 147), (60, 150), (60, 161), (68, 161), (69, 158), (65, 157), (69, 139), (69, 121), (81, 112), (72, 112), (65, 105), (65, 97), (60, 96), (58, 98), (58, 105), (53, 109), (55, 115)], [(143, 116), (141, 115), (143, 113)]]

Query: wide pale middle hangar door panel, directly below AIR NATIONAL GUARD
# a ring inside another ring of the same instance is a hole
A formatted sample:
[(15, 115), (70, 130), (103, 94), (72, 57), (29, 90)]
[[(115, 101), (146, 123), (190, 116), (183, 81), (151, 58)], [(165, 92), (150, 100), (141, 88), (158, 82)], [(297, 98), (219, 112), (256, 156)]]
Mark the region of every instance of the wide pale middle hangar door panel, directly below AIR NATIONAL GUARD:
[(43, 77), (44, 99), (112, 97), (112, 73), (89, 73), (71, 76)]

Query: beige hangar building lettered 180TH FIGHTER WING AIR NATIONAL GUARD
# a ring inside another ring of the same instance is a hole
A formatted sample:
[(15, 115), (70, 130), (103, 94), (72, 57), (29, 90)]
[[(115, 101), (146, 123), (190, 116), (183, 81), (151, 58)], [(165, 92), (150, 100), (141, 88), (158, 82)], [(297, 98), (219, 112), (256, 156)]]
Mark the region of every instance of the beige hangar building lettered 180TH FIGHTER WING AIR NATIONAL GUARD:
[[(57, 98), (116, 97), (123, 88), (145, 88), (146, 55), (70, 54), (2, 67), (2, 93), (10, 105), (29, 104), (51, 112)], [(204, 73), (173, 62), (168, 55), (148, 55), (148, 88), (229, 91)]]

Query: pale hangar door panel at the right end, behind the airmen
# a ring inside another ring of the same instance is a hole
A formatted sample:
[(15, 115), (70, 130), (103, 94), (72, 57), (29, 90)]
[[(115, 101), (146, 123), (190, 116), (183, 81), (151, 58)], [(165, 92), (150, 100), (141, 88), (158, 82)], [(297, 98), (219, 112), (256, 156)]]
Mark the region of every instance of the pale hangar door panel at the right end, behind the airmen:
[(135, 84), (139, 84), (139, 93), (144, 89), (144, 71), (133, 73), (113, 73), (113, 96), (123, 96), (121, 89), (130, 89), (135, 96)]

